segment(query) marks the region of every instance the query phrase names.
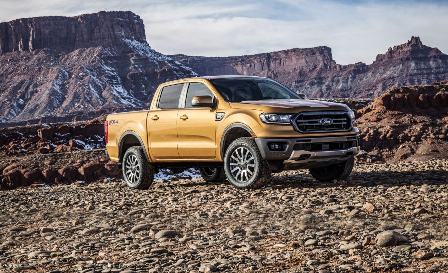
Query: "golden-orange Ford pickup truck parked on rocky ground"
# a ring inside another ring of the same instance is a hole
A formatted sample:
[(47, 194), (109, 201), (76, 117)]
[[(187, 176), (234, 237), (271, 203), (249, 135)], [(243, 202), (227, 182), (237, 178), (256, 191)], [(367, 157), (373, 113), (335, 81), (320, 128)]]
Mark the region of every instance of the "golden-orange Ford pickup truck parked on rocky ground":
[(352, 171), (355, 125), (346, 105), (307, 100), (268, 78), (188, 78), (161, 84), (150, 109), (108, 115), (106, 153), (132, 189), (148, 189), (160, 168), (198, 168), (205, 181), (240, 189), (283, 170), (331, 181)]

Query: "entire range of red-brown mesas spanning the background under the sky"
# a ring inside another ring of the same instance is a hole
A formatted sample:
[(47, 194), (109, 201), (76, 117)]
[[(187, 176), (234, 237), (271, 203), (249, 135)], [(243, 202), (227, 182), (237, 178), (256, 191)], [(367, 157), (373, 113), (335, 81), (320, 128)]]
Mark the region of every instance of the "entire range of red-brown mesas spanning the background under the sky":
[(0, 23), (0, 127), (89, 120), (147, 109), (160, 83), (196, 75), (273, 78), (313, 98), (374, 98), (448, 78), (448, 55), (412, 37), (369, 65), (325, 46), (238, 57), (163, 55), (130, 11)]

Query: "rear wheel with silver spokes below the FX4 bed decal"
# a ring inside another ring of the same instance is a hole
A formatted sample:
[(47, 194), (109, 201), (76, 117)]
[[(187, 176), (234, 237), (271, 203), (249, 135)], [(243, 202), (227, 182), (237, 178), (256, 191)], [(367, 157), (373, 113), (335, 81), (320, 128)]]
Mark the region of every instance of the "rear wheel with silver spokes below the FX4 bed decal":
[(123, 178), (130, 189), (146, 190), (154, 182), (157, 168), (148, 162), (141, 146), (133, 146), (126, 150), (122, 166)]

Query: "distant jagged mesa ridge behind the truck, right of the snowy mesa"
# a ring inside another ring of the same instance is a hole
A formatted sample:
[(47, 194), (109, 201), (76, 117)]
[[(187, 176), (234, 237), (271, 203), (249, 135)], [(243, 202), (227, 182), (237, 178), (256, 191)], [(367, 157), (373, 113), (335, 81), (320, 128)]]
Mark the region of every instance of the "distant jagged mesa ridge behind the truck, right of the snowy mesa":
[(269, 77), (312, 98), (374, 98), (391, 87), (430, 84), (448, 78), (448, 55), (423, 45), (419, 37), (389, 48), (372, 64), (337, 64), (328, 47), (237, 57), (170, 56), (201, 76)]

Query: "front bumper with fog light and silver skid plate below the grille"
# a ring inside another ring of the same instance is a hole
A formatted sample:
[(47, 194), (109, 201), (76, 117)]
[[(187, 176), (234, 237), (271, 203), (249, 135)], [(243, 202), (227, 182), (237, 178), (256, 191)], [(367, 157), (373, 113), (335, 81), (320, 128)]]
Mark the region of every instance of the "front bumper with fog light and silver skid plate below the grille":
[[(255, 138), (264, 160), (282, 162), (284, 169), (313, 168), (346, 161), (360, 150), (360, 136)], [(279, 151), (272, 144), (281, 146)]]

